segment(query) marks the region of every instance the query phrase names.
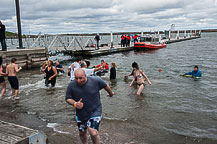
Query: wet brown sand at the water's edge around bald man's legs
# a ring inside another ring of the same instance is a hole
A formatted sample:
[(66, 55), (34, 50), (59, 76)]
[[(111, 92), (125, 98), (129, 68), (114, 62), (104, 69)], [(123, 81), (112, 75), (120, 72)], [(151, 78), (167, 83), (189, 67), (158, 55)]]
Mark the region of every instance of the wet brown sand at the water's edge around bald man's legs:
[[(48, 122), (41, 120), (37, 114), (28, 114), (28, 112), (17, 104), (19, 100), (0, 99), (0, 120), (15, 123), (32, 129), (44, 132), (48, 137), (49, 144), (78, 144), (80, 143), (77, 126), (74, 120), (71, 124), (61, 124), (55, 129), (47, 127)], [(58, 131), (64, 129), (64, 132)], [(162, 144), (215, 144), (216, 141), (210, 139), (189, 138), (182, 135), (160, 134), (159, 130), (153, 134), (154, 129), (149, 127), (138, 127), (124, 121), (103, 119), (100, 126), (100, 138), (103, 144), (157, 144), (162, 140)], [(161, 136), (160, 136), (161, 135)], [(167, 137), (167, 138), (165, 138)], [(146, 142), (148, 141), (148, 142)], [(91, 143), (89, 137), (89, 143)]]

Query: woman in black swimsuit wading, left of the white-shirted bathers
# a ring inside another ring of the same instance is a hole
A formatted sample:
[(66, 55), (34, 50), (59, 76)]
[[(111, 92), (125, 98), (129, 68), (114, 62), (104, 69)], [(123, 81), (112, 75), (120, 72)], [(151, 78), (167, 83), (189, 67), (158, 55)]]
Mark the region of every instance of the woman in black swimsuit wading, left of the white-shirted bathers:
[(51, 86), (54, 87), (56, 84), (57, 70), (53, 65), (53, 61), (49, 60), (48, 65), (44, 70), (45, 73), (45, 86), (48, 86), (51, 83)]

